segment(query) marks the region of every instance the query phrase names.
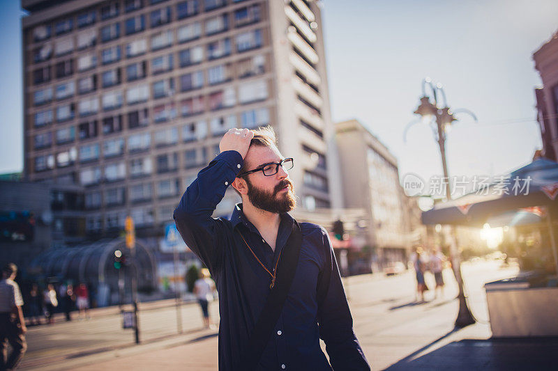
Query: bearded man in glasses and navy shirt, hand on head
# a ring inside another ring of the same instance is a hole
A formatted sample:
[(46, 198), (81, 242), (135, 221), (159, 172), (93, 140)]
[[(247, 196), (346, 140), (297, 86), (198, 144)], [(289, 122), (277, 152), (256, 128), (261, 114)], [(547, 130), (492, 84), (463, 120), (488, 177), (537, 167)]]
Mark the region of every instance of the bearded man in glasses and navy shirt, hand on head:
[[(370, 370), (328, 233), (288, 213), (294, 161), (282, 157), (273, 129), (230, 129), (219, 148), (174, 210), (216, 279), (219, 370)], [(229, 185), (242, 203), (230, 219), (213, 219)]]

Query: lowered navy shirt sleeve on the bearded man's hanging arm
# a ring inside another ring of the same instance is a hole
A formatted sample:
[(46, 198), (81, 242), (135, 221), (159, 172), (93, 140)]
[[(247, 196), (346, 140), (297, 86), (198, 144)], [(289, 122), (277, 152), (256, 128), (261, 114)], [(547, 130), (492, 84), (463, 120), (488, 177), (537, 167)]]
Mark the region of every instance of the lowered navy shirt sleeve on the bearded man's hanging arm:
[(331, 266), (324, 269), (331, 270), (331, 278), (326, 298), (319, 310), (319, 337), (326, 343), (326, 352), (333, 370), (370, 370), (359, 340), (354, 334), (353, 318), (329, 235), (325, 230), (322, 230), (322, 234), (324, 251), (331, 255)]

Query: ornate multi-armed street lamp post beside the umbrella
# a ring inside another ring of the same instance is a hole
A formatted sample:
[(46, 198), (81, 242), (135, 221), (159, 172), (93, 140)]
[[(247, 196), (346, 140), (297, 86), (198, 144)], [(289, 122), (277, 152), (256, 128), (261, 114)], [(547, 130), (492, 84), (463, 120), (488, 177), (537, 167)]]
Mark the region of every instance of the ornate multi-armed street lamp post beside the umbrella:
[[(426, 87), (429, 87), (432, 92), (432, 100), (430, 101), (430, 96), (426, 94)], [(453, 121), (457, 121), (457, 118), (453, 116), (453, 112), (448, 106), (446, 100), (446, 93), (442, 88), (442, 84), (432, 84), (429, 78), (423, 80), (423, 96), (421, 97), (421, 103), (418, 105), (415, 114), (421, 116), (423, 123), (430, 125), (432, 132), (435, 136), (436, 141), (439, 145), (440, 155), (442, 157), (442, 168), (444, 170), (444, 179), (446, 180), (446, 198), (451, 200), (451, 185), (448, 177), (448, 165), (446, 162), (446, 134), (451, 129)], [(443, 99), (443, 104), (442, 104)], [(456, 111), (462, 111), (468, 113), (474, 120), (476, 116), (474, 113), (467, 109), (460, 109)], [(475, 319), (467, 306), (467, 300), (465, 299), (465, 290), (463, 288), (463, 279), (461, 276), (461, 254), (455, 242), (455, 228), (451, 227), (451, 243), (450, 243), (450, 253), (451, 253), (451, 267), (453, 269), (453, 274), (455, 275), (455, 281), (457, 281), (459, 286), (459, 313), (457, 319), (455, 319), (455, 327), (461, 328), (468, 326), (469, 324), (474, 324)]]

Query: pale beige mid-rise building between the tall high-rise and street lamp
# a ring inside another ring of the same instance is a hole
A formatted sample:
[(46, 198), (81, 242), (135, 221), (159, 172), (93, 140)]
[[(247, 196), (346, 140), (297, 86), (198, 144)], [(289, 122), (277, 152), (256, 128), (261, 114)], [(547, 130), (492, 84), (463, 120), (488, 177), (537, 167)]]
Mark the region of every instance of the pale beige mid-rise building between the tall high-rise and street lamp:
[(359, 121), (335, 124), (345, 207), (365, 210), (372, 271), (407, 264), (414, 219), (399, 182), (397, 159)]

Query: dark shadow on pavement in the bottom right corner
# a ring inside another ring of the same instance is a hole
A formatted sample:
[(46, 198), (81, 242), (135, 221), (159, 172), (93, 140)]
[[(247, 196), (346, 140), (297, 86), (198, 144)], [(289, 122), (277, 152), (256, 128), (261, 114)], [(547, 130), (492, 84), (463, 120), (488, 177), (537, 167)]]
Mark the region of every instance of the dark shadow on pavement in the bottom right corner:
[(464, 339), (414, 358), (430, 345), (386, 370), (557, 370), (558, 338)]

